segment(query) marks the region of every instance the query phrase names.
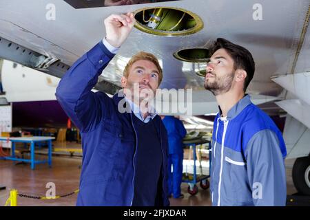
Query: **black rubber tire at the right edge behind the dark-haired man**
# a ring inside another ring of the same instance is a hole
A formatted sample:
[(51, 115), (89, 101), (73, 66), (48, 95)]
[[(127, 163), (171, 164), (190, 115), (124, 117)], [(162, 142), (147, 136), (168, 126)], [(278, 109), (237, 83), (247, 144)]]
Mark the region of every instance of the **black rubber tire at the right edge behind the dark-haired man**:
[(293, 183), (298, 192), (300, 192), (303, 195), (310, 195), (310, 187), (307, 186), (306, 180), (304, 179), (304, 172), (307, 170), (309, 166), (310, 166), (310, 157), (299, 157), (296, 159), (293, 165), (292, 170)]

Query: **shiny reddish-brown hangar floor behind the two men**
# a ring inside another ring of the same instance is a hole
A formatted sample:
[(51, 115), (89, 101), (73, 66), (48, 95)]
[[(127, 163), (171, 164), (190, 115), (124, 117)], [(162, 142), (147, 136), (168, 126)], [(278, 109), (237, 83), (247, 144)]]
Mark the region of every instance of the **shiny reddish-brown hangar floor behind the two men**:
[[(45, 155), (36, 155), (46, 158)], [(291, 179), (293, 159), (286, 161), (287, 167), (287, 195), (296, 192)], [(0, 186), (6, 186), (6, 190), (0, 191), (0, 206), (6, 203), (11, 188), (16, 188), (19, 193), (45, 196), (46, 184), (54, 182), (56, 195), (65, 195), (79, 188), (79, 176), (81, 170), (81, 158), (68, 156), (53, 156), (52, 168), (48, 164), (38, 164), (35, 170), (30, 169), (29, 164), (14, 165), (12, 161), (0, 160)], [(211, 206), (209, 190), (199, 187), (198, 194), (191, 196), (187, 193), (187, 184), (182, 184), (183, 199), (170, 199), (171, 206)], [(18, 206), (75, 206), (77, 195), (70, 195), (60, 199), (28, 199), (18, 197)]]

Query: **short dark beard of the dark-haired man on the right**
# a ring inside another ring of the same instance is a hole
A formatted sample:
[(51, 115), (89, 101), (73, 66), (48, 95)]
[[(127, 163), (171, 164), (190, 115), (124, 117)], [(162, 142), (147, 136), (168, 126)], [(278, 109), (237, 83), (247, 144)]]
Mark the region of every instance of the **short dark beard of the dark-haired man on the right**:
[(223, 78), (217, 78), (214, 76), (214, 83), (205, 82), (205, 89), (211, 91), (214, 96), (219, 96), (221, 94), (227, 93), (231, 88), (232, 82), (234, 80), (234, 72)]

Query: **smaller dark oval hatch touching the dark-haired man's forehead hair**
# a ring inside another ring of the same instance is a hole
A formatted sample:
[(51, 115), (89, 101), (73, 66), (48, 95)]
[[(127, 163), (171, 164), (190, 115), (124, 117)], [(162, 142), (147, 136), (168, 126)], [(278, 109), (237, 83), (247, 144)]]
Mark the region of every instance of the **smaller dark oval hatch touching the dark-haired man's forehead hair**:
[(207, 48), (188, 48), (174, 53), (174, 57), (180, 61), (190, 63), (206, 63), (209, 61), (209, 50)]

